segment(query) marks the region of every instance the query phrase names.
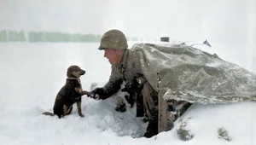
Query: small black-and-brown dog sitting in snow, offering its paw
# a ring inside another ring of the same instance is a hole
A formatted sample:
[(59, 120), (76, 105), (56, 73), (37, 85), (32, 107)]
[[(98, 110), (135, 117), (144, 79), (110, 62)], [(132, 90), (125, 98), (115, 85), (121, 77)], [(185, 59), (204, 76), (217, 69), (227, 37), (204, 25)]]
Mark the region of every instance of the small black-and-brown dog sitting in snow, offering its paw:
[(90, 92), (84, 91), (80, 82), (80, 76), (84, 75), (85, 71), (78, 66), (67, 68), (66, 84), (61, 88), (55, 98), (54, 113), (45, 112), (44, 115), (54, 116), (55, 114), (61, 117), (72, 112), (73, 104), (76, 102), (79, 115), (84, 117), (81, 110), (82, 96), (90, 95)]

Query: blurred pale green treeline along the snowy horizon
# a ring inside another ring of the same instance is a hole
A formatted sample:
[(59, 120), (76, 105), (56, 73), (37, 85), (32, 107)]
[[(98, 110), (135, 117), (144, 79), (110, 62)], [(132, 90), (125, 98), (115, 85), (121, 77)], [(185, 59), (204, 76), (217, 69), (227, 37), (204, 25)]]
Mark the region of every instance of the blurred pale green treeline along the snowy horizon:
[[(100, 42), (102, 36), (96, 34), (80, 34), (69, 32), (24, 32), (13, 30), (0, 31), (0, 42)], [(129, 40), (129, 38), (128, 38)], [(131, 38), (131, 41), (137, 41), (137, 38)]]

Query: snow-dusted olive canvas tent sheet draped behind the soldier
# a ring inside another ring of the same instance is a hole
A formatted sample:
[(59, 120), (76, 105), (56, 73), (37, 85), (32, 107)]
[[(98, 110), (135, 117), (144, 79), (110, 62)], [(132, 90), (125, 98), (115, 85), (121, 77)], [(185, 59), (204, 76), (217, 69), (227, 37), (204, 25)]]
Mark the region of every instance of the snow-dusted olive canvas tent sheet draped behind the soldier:
[(200, 103), (256, 100), (256, 75), (186, 44), (135, 44), (143, 73), (164, 99)]

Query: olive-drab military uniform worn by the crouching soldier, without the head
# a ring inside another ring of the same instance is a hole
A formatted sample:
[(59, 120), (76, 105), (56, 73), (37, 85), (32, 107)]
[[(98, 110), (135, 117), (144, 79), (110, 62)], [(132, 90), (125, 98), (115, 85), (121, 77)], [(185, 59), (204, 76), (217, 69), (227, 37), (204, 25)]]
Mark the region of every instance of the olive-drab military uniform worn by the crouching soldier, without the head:
[[(145, 136), (151, 137), (158, 133), (158, 93), (148, 83), (144, 77), (139, 64), (136, 51), (125, 49), (125, 53), (120, 64), (112, 65), (112, 72), (108, 83), (102, 88), (103, 92), (100, 99), (107, 99), (117, 93), (123, 82), (137, 84), (137, 88), (143, 93), (143, 106), (148, 118), (148, 129)], [(134, 82), (136, 81), (136, 82)], [(95, 91), (92, 91), (95, 93)]]

